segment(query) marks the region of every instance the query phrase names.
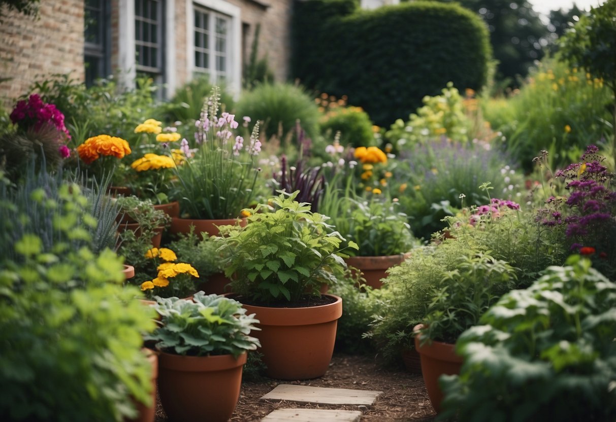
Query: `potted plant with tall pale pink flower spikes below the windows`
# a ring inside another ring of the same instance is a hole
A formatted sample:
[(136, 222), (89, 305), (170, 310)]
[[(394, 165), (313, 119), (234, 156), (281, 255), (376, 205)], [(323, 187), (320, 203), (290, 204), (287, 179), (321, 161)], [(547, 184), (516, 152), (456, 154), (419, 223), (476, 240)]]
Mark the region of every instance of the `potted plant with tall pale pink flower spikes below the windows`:
[[(235, 133), (240, 124), (234, 114), (218, 115), (219, 101), (219, 87), (215, 86), (195, 122), (196, 148), (176, 167), (172, 197), (180, 202), (181, 218), (172, 220), (173, 233), (187, 233), (195, 226), (196, 233), (216, 235), (217, 225), (244, 217), (241, 211), (255, 196), (261, 170), (257, 161), (261, 151), (259, 122), (250, 135)], [(249, 121), (246, 117), (246, 130)]]

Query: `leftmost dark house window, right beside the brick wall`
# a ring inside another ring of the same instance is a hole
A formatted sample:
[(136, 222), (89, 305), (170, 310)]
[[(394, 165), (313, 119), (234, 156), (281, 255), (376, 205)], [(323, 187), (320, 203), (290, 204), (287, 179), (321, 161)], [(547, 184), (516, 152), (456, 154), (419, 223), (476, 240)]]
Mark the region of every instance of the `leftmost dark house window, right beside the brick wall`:
[(84, 4), (84, 64), (86, 86), (109, 73), (108, 18), (105, 0), (86, 0)]

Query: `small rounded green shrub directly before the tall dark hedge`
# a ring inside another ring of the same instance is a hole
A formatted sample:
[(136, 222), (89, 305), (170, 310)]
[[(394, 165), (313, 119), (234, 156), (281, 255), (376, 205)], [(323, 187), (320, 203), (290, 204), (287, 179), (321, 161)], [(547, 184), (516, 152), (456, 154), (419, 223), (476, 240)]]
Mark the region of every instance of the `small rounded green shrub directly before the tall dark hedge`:
[(342, 146), (375, 146), (370, 116), (361, 107), (336, 107), (330, 109), (320, 122), (321, 133), (325, 138), (333, 138), (340, 132)]

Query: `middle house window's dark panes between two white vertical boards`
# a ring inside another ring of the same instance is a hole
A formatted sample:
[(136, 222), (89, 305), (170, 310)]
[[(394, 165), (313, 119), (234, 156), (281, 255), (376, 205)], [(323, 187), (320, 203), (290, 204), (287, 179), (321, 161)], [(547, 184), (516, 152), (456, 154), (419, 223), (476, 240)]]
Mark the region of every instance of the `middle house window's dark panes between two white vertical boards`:
[(137, 71), (155, 77), (163, 74), (162, 11), (162, 0), (135, 0)]

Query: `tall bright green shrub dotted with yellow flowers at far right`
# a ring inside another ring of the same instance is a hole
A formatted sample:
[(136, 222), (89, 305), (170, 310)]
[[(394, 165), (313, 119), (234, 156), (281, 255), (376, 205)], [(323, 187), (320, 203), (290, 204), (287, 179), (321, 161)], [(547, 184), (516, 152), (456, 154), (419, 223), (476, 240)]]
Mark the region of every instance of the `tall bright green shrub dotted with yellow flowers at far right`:
[(609, 134), (610, 90), (599, 79), (554, 60), (544, 60), (512, 97), (484, 104), (485, 119), (503, 133), (522, 169), (549, 151), (553, 168), (576, 161), (586, 146)]

